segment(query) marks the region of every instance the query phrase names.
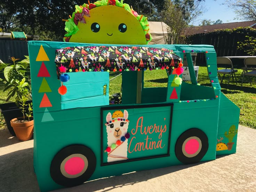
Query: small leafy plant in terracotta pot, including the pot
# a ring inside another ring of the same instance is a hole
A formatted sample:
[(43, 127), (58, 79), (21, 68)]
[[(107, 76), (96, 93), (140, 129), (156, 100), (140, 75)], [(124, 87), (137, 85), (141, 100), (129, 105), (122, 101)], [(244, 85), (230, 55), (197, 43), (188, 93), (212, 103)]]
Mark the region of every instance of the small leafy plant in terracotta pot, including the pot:
[[(27, 141), (33, 137), (34, 120), (32, 116), (32, 103), (26, 104), (28, 100), (29, 91), (26, 88), (29, 84), (25, 82), (25, 78), (22, 81), (16, 80), (17, 94), (16, 103), (19, 104), (19, 108), (22, 111), (23, 117), (17, 117), (10, 121), (11, 127), (13, 127), (17, 138), (20, 141)], [(26, 113), (26, 106), (28, 110)]]

